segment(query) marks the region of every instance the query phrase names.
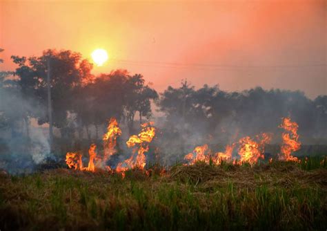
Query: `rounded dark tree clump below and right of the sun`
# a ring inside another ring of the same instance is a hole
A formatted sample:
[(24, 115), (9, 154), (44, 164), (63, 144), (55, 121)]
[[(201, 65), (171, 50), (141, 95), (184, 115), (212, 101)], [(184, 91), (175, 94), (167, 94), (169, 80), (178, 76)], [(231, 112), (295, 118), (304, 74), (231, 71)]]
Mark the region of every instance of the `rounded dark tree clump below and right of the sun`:
[(116, 70), (109, 74), (93, 77), (92, 82), (81, 87), (81, 94), (75, 95), (75, 104), (81, 105), (77, 118), (83, 127), (95, 125), (96, 137), (98, 128), (111, 117), (117, 120), (126, 120), (130, 131), (139, 112), (149, 118), (151, 115), (150, 100), (158, 97), (157, 92), (144, 84), (142, 75), (128, 75), (126, 70)]

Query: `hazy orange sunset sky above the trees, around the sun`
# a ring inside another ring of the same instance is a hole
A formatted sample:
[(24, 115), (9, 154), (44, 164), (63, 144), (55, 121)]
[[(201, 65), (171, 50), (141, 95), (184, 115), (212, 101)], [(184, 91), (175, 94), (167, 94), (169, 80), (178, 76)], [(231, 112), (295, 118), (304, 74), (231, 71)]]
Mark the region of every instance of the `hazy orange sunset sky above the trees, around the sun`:
[(327, 95), (327, 1), (0, 0), (1, 70), (11, 55), (74, 50), (141, 73), (157, 91), (188, 80), (224, 91), (300, 90)]

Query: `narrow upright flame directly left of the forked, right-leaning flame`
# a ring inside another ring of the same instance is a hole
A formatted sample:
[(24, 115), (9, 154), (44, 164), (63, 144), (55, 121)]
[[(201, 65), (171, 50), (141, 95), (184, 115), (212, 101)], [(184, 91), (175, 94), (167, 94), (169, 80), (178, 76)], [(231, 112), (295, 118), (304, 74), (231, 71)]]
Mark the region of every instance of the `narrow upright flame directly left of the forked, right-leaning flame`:
[(115, 118), (110, 118), (107, 133), (103, 135), (103, 161), (106, 161), (115, 154), (115, 147), (117, 145), (117, 137), (121, 136), (121, 129), (118, 126), (118, 122)]

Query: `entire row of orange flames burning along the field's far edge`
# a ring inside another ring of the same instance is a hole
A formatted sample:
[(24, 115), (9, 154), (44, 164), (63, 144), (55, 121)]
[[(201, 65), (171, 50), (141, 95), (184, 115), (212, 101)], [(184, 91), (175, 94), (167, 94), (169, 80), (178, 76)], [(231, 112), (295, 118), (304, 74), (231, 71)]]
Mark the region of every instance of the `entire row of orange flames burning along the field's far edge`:
[[(115, 169), (106, 166), (107, 160), (110, 156), (115, 154), (117, 138), (121, 136), (121, 129), (115, 118), (110, 118), (108, 131), (103, 135), (103, 158), (100, 158), (97, 155), (97, 146), (92, 144), (88, 150), (90, 156), (88, 167), (83, 167), (82, 155), (80, 152), (68, 152), (66, 154), (66, 163), (69, 168), (90, 172), (95, 172), (96, 167), (102, 167), (111, 173), (119, 172), (123, 177), (128, 169), (137, 167), (144, 170), (146, 166), (146, 152), (149, 151), (150, 142), (152, 142), (156, 135), (156, 129), (153, 125), (153, 122), (141, 124), (141, 131), (139, 134), (130, 136), (126, 141), (126, 145), (127, 147), (132, 148), (132, 155), (130, 158), (118, 163)], [(296, 157), (291, 155), (293, 151), (297, 151), (301, 147), (301, 142), (298, 141), (299, 135), (297, 134), (299, 126), (296, 122), (292, 122), (290, 118), (283, 118), (279, 127), (285, 129), (284, 133), (281, 135), (283, 143), (281, 145), (279, 159), (299, 161)], [(260, 135), (255, 136), (255, 138), (246, 136), (239, 139), (238, 142), (232, 143), (232, 145), (227, 145), (224, 152), (216, 152), (213, 155), (208, 145), (205, 144), (195, 147), (192, 152), (184, 156), (184, 160), (187, 160), (188, 162), (186, 165), (194, 165), (197, 161), (202, 161), (208, 164), (210, 163), (210, 160), (212, 160), (212, 163), (216, 165), (221, 165), (223, 161), (228, 161), (233, 165), (242, 165), (243, 163), (254, 165), (260, 158), (264, 158), (265, 145), (268, 144), (271, 139), (271, 133), (261, 133)], [(239, 145), (239, 160), (237, 160), (237, 158), (232, 158), (232, 152), (237, 145)], [(269, 163), (272, 162), (273, 158), (270, 158)], [(150, 172), (145, 171), (145, 173), (150, 175)]]

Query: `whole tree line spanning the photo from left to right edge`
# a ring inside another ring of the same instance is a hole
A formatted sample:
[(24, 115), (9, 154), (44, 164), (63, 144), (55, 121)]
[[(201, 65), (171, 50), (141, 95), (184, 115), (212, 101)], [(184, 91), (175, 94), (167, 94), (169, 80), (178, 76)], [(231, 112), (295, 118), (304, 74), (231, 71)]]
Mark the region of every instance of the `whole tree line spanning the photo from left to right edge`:
[(71, 50), (45, 50), (39, 57), (12, 56), (12, 62), (17, 64), (14, 72), (0, 73), (0, 129), (11, 129), (12, 136), (17, 134), (15, 124), (23, 122), (28, 136), (30, 119), (47, 124), (49, 115), (62, 138), (72, 139), (75, 133), (82, 138), (86, 132), (91, 139), (90, 127), (95, 127), (98, 136), (98, 128), (112, 116), (133, 133), (135, 120), (143, 122), (153, 116), (154, 102), (165, 115), (163, 130), (170, 133), (259, 133), (277, 129), (281, 117), (292, 116), (305, 136), (327, 137), (326, 95), (310, 100), (301, 91), (260, 87), (226, 92), (205, 84), (195, 89), (187, 81), (159, 94), (141, 74), (117, 70), (95, 76), (92, 64)]

